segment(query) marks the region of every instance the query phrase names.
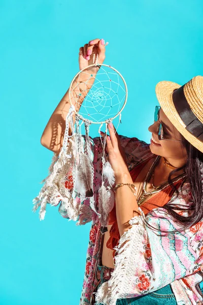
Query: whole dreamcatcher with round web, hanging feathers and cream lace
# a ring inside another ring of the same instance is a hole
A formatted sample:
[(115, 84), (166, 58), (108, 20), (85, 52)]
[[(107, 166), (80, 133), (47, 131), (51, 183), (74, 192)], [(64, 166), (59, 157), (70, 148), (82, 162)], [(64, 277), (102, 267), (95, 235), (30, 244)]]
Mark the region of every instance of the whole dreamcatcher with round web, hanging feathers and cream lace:
[[(96, 57), (96, 60), (95, 60)], [(90, 208), (100, 218), (101, 225), (105, 226), (109, 211), (114, 202), (112, 186), (115, 177), (110, 162), (105, 155), (108, 124), (119, 115), (121, 123), (121, 111), (127, 101), (127, 86), (122, 75), (113, 67), (97, 63), (97, 56), (93, 57), (93, 64), (80, 70), (73, 78), (69, 89), (71, 107), (65, 120), (65, 132), (63, 145), (57, 156), (54, 154), (49, 175), (42, 181), (45, 182), (39, 195), (33, 199), (33, 211), (40, 207), (40, 220), (46, 213), (46, 204), (51, 206), (62, 202), (67, 210), (69, 218), (77, 220), (82, 205), (81, 202), (89, 199)], [(95, 74), (91, 74), (91, 67), (98, 67)], [(79, 109), (79, 111), (78, 111)], [(75, 118), (75, 123), (74, 123)], [(82, 136), (81, 126), (84, 124), (85, 135)], [(94, 205), (93, 194), (93, 159), (91, 158), (91, 139), (89, 127), (91, 124), (105, 125), (106, 133), (100, 136), (103, 147), (101, 187), (98, 190), (98, 211)], [(116, 131), (118, 129), (116, 128)], [(72, 135), (69, 135), (71, 127)], [(73, 190), (64, 187), (64, 176), (70, 173), (73, 176)], [(106, 186), (104, 181), (107, 181)], [(41, 183), (42, 183), (41, 182)], [(75, 200), (75, 198), (80, 200)]]

